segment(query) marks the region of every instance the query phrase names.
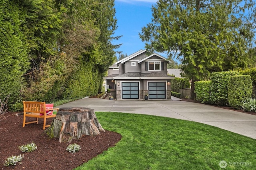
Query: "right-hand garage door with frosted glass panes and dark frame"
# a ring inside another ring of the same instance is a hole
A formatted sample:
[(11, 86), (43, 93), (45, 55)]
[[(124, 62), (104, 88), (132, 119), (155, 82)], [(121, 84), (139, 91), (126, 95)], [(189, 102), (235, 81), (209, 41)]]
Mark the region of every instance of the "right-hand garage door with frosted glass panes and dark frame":
[(165, 99), (166, 82), (149, 82), (148, 99)]

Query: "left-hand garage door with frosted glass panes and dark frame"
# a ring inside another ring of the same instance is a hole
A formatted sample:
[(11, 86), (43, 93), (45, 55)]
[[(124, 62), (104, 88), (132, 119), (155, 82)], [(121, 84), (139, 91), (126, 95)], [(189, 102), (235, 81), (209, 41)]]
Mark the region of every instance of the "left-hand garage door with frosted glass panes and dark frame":
[(138, 99), (139, 82), (122, 82), (122, 99)]

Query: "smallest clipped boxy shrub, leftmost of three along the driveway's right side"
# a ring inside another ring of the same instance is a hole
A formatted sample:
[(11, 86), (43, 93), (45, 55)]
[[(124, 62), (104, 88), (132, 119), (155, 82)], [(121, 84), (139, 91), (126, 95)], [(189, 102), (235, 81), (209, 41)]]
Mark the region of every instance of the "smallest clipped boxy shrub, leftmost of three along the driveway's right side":
[(195, 82), (196, 100), (201, 103), (210, 103), (210, 86), (212, 81)]

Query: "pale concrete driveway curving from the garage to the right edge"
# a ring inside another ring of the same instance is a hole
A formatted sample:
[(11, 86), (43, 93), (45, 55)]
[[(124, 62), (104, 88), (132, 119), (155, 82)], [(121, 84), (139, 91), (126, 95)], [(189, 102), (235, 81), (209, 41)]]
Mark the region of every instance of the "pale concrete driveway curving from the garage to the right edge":
[(192, 102), (84, 98), (60, 107), (88, 107), (95, 111), (139, 113), (196, 121), (256, 139), (256, 115)]

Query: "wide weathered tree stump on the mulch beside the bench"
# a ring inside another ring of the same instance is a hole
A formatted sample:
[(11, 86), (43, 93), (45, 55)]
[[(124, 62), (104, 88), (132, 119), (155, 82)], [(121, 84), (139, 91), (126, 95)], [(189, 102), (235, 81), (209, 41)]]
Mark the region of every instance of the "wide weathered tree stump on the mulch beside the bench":
[(94, 109), (86, 107), (62, 107), (56, 118), (44, 133), (50, 138), (59, 138), (59, 142), (71, 142), (84, 135), (100, 135), (102, 128), (95, 115)]

